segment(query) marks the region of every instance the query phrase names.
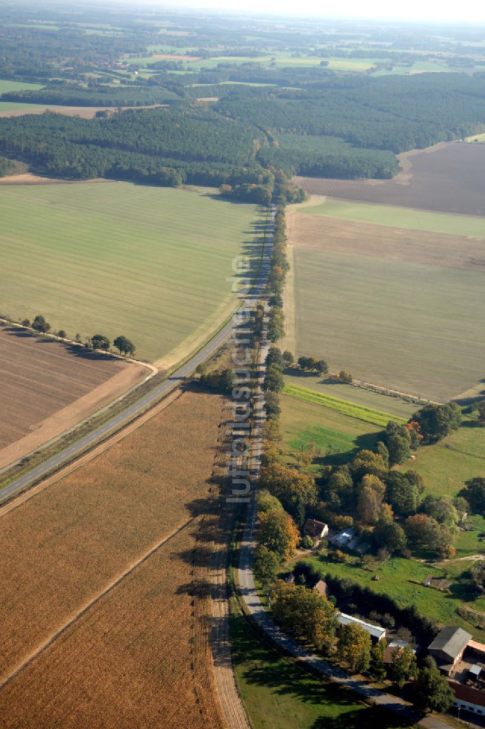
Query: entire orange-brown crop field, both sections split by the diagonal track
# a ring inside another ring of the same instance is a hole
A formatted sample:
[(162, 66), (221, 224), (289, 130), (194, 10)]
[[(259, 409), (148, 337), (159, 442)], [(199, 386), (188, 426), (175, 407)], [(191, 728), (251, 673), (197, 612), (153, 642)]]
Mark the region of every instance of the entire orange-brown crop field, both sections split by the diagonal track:
[(208, 508), (222, 414), (221, 397), (187, 392), (2, 515), (0, 682), (15, 676), (0, 690), (1, 725), (223, 725), (217, 697), (207, 717), (197, 695), (198, 685), (213, 680), (201, 677), (200, 661), (198, 676), (193, 672), (197, 524), (106, 593)]

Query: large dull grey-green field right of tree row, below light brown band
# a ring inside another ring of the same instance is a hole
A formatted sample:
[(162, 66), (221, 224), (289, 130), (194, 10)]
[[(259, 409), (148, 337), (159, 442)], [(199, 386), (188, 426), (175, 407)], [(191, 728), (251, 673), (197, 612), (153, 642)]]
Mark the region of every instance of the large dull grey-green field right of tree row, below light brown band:
[(438, 401), (484, 377), (484, 275), (295, 246), (297, 357)]

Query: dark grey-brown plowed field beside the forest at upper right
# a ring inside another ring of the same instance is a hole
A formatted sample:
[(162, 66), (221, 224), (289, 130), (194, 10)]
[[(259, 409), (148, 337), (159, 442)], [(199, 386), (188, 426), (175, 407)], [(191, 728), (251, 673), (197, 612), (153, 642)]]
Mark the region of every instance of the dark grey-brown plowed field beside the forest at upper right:
[(312, 195), (444, 213), (485, 215), (485, 144), (450, 142), (400, 155), (392, 180), (295, 177)]

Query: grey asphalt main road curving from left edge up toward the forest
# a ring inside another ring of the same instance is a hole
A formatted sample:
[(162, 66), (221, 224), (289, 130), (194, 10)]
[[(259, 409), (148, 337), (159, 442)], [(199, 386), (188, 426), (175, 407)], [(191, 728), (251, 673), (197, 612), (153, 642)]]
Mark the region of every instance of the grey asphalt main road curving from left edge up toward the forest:
[[(271, 219), (274, 219), (274, 213)], [(244, 305), (242, 305), (241, 308), (252, 307), (255, 304), (255, 301), (257, 301), (263, 294), (263, 289), (269, 273), (269, 260), (272, 240), (271, 230), (269, 228), (267, 233), (268, 234), (266, 235), (265, 252), (263, 254), (260, 274), (257, 278), (255, 285), (252, 287), (252, 291), (244, 300)], [(194, 354), (194, 356), (191, 357), (187, 362), (185, 362), (185, 364), (182, 364), (182, 367), (179, 367), (178, 370), (176, 370), (169, 378), (163, 381), (163, 383), (158, 385), (158, 387), (151, 390), (146, 395), (144, 395), (144, 397), (141, 397), (139, 400), (134, 402), (133, 405), (130, 405), (128, 406), (128, 408), (125, 408), (125, 410), (117, 413), (117, 415), (113, 416), (103, 425), (86, 434), (82, 438), (79, 438), (79, 440), (77, 440), (75, 443), (71, 443), (71, 445), (69, 445), (67, 448), (64, 448), (63, 451), (55, 453), (54, 456), (51, 456), (46, 461), (43, 461), (42, 464), (39, 464), (39, 466), (36, 466), (35, 468), (31, 469), (31, 471), (28, 471), (26, 474), (16, 478), (14, 481), (9, 483), (8, 486), (0, 488), (0, 502), (4, 501), (5, 499), (9, 499), (11, 496), (14, 496), (18, 491), (22, 491), (24, 488), (32, 486), (34, 483), (42, 479), (42, 477), (47, 476), (50, 472), (58, 469), (58, 467), (61, 467), (64, 464), (68, 463), (80, 453), (83, 453), (88, 448), (90, 448), (90, 446), (98, 443), (98, 441), (103, 440), (104, 437), (106, 437), (106, 435), (108, 435), (112, 431), (120, 429), (123, 424), (131, 421), (134, 417), (144, 412), (144, 410), (149, 408), (150, 405), (155, 405), (155, 403), (158, 402), (164, 395), (174, 389), (180, 383), (180, 381), (182, 381), (188, 375), (191, 375), (195, 370), (195, 367), (198, 366), (198, 364), (201, 364), (210, 356), (212, 356), (212, 354), (214, 354), (214, 352), (216, 352), (222, 346), (222, 344), (225, 343), (228, 338), (230, 338), (230, 335), (233, 333), (233, 330), (236, 329), (236, 326), (237, 322), (235, 322), (234, 318), (231, 317), (228, 324), (226, 324), (225, 327), (220, 330), (220, 332), (217, 332), (214, 338), (206, 343), (206, 345), (203, 346), (203, 348), (201, 348), (201, 350), (199, 350), (196, 354)]]

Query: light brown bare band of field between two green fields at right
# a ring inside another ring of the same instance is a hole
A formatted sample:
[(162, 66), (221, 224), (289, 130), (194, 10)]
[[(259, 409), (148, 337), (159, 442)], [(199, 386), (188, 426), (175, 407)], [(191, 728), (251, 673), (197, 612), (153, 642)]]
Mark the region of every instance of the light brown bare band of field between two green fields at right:
[(485, 238), (308, 215), (304, 210), (287, 217), (293, 246), (485, 271)]

